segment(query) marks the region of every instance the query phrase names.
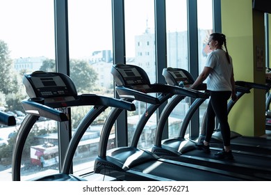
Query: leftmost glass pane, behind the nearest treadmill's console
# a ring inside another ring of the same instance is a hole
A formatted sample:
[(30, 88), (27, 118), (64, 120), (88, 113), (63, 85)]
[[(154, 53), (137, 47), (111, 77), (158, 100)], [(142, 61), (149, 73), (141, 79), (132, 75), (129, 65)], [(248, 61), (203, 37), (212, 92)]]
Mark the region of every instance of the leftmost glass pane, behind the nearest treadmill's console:
[[(15, 127), (1, 126), (0, 180), (12, 180), (13, 143), (25, 116), (21, 101), (28, 98), (22, 76), (25, 72), (47, 67), (55, 59), (54, 1), (0, 0), (0, 25), (0, 107), (15, 115), (17, 122)], [(21, 180), (58, 172), (58, 163), (52, 162), (58, 161), (57, 146), (51, 157), (31, 153), (33, 147), (53, 146), (55, 138), (57, 140), (55, 129), (56, 123), (46, 118), (40, 118), (35, 124), (24, 147)], [(49, 133), (54, 134), (54, 138), (48, 139)]]

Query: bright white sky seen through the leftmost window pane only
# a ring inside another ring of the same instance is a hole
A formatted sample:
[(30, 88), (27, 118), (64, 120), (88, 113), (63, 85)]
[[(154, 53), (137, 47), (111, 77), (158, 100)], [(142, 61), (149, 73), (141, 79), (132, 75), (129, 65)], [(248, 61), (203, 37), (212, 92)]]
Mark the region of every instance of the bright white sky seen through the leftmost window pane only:
[(54, 56), (54, 26), (50, 25), (54, 24), (54, 13), (49, 8), (52, 6), (54, 3), (40, 0), (0, 0), (0, 40), (8, 43), (10, 56), (40, 56), (43, 52)]

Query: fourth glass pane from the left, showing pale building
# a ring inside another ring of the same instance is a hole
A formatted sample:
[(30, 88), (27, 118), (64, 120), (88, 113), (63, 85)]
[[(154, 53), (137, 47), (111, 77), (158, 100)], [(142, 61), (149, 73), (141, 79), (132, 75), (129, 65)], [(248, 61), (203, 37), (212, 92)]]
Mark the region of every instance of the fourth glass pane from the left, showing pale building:
[[(188, 70), (188, 25), (186, 0), (166, 0), (167, 67)], [(170, 114), (169, 137), (177, 137), (189, 105), (182, 100)]]

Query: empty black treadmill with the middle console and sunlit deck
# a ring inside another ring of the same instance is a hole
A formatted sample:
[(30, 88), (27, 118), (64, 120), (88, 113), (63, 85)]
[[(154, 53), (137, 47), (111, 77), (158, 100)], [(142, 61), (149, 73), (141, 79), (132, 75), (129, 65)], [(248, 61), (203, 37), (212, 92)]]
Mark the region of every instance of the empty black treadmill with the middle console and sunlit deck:
[[(95, 173), (111, 176), (117, 180), (244, 180), (214, 168), (162, 159), (149, 150), (136, 146), (142, 126), (165, 100), (176, 94), (184, 97), (208, 98), (206, 93), (167, 84), (150, 84), (146, 72), (136, 65), (122, 63), (113, 65), (111, 73), (117, 84), (116, 91), (122, 100), (130, 102), (138, 100), (150, 105), (147, 107), (148, 114), (142, 114), (138, 122), (131, 146), (106, 151), (110, 130), (122, 109), (111, 111), (101, 132)], [(157, 98), (151, 96), (151, 93), (158, 94)]]

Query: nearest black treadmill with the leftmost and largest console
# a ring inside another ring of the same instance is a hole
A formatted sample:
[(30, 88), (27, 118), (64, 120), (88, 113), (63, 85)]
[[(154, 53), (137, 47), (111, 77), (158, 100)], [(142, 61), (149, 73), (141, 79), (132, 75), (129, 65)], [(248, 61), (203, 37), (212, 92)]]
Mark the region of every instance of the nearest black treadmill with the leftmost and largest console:
[[(56, 120), (60, 123), (67, 123), (68, 116), (61, 111), (68, 107), (79, 107), (85, 105), (94, 105), (88, 114), (83, 118), (83, 125), (87, 126), (92, 123), (99, 114), (101, 114), (107, 107), (117, 107), (133, 111), (136, 109), (134, 104), (117, 100), (114, 98), (107, 98), (95, 94), (82, 94), (78, 95), (72, 80), (62, 73), (58, 72), (43, 72), (37, 71), (31, 74), (24, 74), (23, 84), (26, 87), (26, 93), (29, 98), (22, 101), (22, 106), (26, 111), (26, 118), (22, 125), (19, 127), (17, 133), (17, 140), (13, 149), (13, 162), (12, 162), (12, 179), (19, 181), (21, 179), (21, 160), (22, 150), (26, 142), (31, 128), (40, 116)], [(69, 145), (73, 144), (74, 150), (78, 145), (81, 137), (86, 128), (81, 128), (76, 131), (72, 136)], [(71, 153), (70, 151), (66, 151)], [(72, 161), (72, 160), (71, 160)], [(72, 163), (70, 163), (72, 164)], [(70, 168), (69, 164), (69, 168)], [(33, 178), (35, 181), (82, 181), (82, 177), (69, 174), (68, 171), (60, 171), (60, 173), (52, 174), (50, 176), (42, 176)]]

